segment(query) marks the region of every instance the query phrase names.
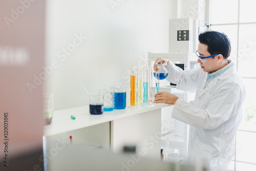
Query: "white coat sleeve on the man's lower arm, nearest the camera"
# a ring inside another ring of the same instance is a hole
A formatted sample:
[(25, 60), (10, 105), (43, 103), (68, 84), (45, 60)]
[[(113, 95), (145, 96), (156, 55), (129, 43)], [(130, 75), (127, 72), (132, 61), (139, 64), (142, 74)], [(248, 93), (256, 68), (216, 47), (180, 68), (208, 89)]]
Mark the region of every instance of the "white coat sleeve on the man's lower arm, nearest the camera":
[(209, 101), (206, 109), (200, 109), (179, 98), (172, 117), (201, 129), (216, 129), (241, 109), (244, 93), (231, 87), (221, 88)]

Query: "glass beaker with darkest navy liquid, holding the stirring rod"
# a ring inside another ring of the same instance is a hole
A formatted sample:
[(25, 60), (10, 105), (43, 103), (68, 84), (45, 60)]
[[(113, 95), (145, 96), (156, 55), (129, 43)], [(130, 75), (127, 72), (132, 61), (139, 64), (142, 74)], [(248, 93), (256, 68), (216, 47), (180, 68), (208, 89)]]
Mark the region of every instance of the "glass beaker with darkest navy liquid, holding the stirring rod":
[(92, 115), (101, 115), (104, 111), (103, 109), (103, 96), (100, 94), (89, 95), (90, 99), (90, 114)]

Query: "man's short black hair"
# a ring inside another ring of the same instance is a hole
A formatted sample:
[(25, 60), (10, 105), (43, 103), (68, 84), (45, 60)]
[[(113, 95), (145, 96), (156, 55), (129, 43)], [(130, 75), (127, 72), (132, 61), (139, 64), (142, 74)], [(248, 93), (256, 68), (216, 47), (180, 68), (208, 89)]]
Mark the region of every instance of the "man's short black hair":
[(199, 35), (199, 42), (207, 45), (211, 55), (222, 54), (227, 59), (231, 52), (230, 40), (226, 34), (217, 31), (206, 31)]

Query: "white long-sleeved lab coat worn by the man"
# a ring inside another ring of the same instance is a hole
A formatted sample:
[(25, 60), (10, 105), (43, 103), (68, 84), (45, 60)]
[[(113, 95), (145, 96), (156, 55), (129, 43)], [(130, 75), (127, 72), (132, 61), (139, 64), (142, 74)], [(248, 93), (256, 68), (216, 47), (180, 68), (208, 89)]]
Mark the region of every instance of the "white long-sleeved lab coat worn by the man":
[[(231, 62), (231, 61), (229, 61)], [(234, 137), (242, 119), (245, 87), (234, 66), (213, 79), (206, 88), (201, 68), (183, 71), (168, 62), (167, 80), (177, 89), (195, 91), (194, 105), (179, 98), (172, 117), (190, 125), (187, 161), (212, 170), (226, 170), (234, 154)]]

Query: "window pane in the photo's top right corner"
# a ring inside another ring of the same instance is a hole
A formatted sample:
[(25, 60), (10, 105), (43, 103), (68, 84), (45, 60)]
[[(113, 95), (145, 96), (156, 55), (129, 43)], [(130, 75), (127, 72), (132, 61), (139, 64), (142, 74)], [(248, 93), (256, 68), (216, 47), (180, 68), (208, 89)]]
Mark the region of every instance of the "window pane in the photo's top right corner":
[(243, 0), (240, 1), (240, 22), (256, 22), (256, 1)]

